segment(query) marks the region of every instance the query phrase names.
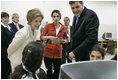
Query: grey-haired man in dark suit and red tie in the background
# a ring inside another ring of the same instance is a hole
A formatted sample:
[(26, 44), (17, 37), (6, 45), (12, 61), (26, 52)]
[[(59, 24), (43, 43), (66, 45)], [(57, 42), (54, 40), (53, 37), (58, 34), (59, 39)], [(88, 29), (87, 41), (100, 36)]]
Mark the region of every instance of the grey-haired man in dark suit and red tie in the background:
[(10, 27), (12, 28), (12, 30), (16, 33), (19, 29), (23, 28), (24, 26), (19, 24), (19, 15), (17, 13), (14, 13), (12, 15), (12, 23), (10, 23)]

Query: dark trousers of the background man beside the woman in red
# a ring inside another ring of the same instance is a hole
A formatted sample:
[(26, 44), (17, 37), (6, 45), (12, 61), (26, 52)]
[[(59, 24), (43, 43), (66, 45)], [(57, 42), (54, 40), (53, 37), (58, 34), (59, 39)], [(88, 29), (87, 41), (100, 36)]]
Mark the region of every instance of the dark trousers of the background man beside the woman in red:
[(66, 63), (66, 59), (67, 59), (67, 62), (68, 63), (72, 62), (69, 59), (69, 52), (71, 52), (71, 43), (70, 42), (63, 44), (62, 60), (61, 60), (61, 63), (62, 64), (65, 64)]

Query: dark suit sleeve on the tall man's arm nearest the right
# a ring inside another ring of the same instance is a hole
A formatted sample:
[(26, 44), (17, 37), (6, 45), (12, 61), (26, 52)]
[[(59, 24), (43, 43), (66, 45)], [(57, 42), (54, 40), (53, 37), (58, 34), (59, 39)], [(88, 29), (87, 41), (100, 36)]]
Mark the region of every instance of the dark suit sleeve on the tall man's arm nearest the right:
[(72, 52), (74, 54), (78, 54), (79, 52), (85, 51), (94, 40), (98, 38), (98, 27), (99, 27), (99, 20), (98, 17), (93, 14), (91, 15), (88, 20), (86, 21), (85, 32), (86, 32), (86, 39), (78, 45)]

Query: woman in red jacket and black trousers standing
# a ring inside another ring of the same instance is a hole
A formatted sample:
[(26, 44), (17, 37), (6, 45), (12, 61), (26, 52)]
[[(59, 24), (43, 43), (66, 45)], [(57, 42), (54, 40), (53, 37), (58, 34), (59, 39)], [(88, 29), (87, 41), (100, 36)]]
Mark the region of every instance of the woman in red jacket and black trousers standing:
[[(42, 41), (46, 41), (44, 50), (44, 63), (47, 68), (47, 78), (57, 79), (59, 77), (61, 58), (62, 58), (62, 45), (61, 43), (67, 42), (66, 27), (59, 21), (61, 13), (59, 10), (53, 10), (51, 13), (53, 23), (47, 24), (40, 36)], [(48, 34), (46, 36), (46, 34)], [(54, 72), (52, 68), (54, 67)]]

